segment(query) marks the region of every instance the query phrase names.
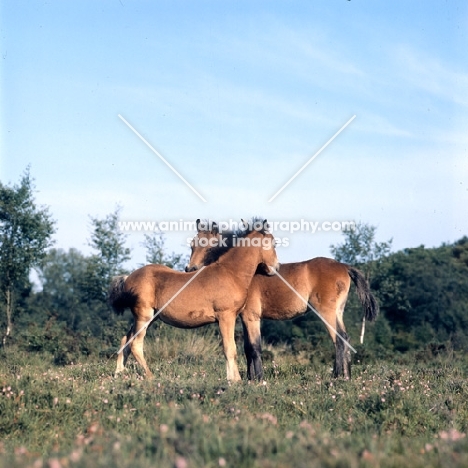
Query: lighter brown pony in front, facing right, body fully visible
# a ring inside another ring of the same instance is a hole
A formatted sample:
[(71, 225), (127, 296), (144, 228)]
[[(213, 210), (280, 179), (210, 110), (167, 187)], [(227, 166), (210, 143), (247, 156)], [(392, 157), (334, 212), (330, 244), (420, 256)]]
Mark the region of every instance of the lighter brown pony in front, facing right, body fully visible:
[(130, 352), (150, 377), (143, 356), (146, 329), (159, 318), (179, 328), (196, 328), (218, 322), (223, 341), (228, 380), (240, 380), (234, 326), (245, 303), (257, 267), (269, 274), (278, 268), (273, 236), (265, 230), (237, 233), (242, 245), (227, 249), (219, 261), (195, 273), (146, 265), (129, 276), (113, 279), (109, 303), (116, 313), (132, 311), (134, 323), (122, 338), (116, 374), (123, 371)]

